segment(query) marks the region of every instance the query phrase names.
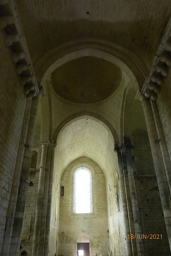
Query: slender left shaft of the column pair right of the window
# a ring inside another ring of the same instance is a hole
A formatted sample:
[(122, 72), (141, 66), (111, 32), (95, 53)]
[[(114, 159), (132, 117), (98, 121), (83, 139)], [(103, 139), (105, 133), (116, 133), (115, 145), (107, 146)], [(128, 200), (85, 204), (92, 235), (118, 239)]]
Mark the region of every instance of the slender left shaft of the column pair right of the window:
[(119, 148), (115, 148), (117, 152), (117, 159), (118, 159), (118, 166), (119, 166), (119, 182), (121, 188), (121, 204), (123, 207), (123, 218), (124, 218), (124, 225), (125, 225), (125, 239), (127, 245), (127, 255), (133, 255), (132, 252), (132, 245), (130, 239), (130, 228), (129, 228), (129, 216), (127, 213), (127, 200), (125, 194), (125, 184), (124, 184), (124, 177), (123, 177), (123, 164), (122, 164), (122, 157), (121, 157), (121, 150)]

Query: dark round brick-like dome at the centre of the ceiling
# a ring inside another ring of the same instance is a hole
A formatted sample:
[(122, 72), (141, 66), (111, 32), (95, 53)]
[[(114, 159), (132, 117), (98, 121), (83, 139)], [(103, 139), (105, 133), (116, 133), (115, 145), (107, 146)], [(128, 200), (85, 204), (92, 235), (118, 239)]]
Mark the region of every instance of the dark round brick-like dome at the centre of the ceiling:
[(52, 73), (52, 84), (56, 93), (66, 100), (93, 103), (109, 97), (121, 78), (121, 70), (111, 62), (85, 56), (57, 68)]

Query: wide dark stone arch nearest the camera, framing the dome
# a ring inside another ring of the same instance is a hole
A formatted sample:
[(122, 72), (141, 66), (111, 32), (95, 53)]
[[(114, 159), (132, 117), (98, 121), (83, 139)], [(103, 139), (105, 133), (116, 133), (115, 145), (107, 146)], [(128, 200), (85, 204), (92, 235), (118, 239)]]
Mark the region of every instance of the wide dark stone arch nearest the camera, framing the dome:
[(115, 64), (129, 76), (136, 88), (142, 88), (148, 73), (144, 62), (122, 46), (99, 38), (79, 38), (46, 52), (34, 65), (38, 84), (44, 86), (56, 68), (84, 56), (102, 58)]

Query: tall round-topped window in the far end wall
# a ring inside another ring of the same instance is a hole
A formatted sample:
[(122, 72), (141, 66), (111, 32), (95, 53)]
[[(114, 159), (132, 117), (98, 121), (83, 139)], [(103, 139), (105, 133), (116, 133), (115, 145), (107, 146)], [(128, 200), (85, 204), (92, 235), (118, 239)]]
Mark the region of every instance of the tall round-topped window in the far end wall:
[(74, 173), (74, 213), (92, 212), (92, 178), (88, 168), (80, 167)]

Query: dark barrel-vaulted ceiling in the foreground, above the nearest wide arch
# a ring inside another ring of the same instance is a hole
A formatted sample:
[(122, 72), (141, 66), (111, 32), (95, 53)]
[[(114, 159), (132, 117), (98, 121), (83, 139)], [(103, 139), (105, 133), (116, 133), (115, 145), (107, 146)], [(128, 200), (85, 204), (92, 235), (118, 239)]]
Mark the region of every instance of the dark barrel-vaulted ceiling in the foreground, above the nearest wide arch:
[(16, 0), (34, 64), (78, 38), (114, 42), (149, 66), (171, 14), (166, 0)]

